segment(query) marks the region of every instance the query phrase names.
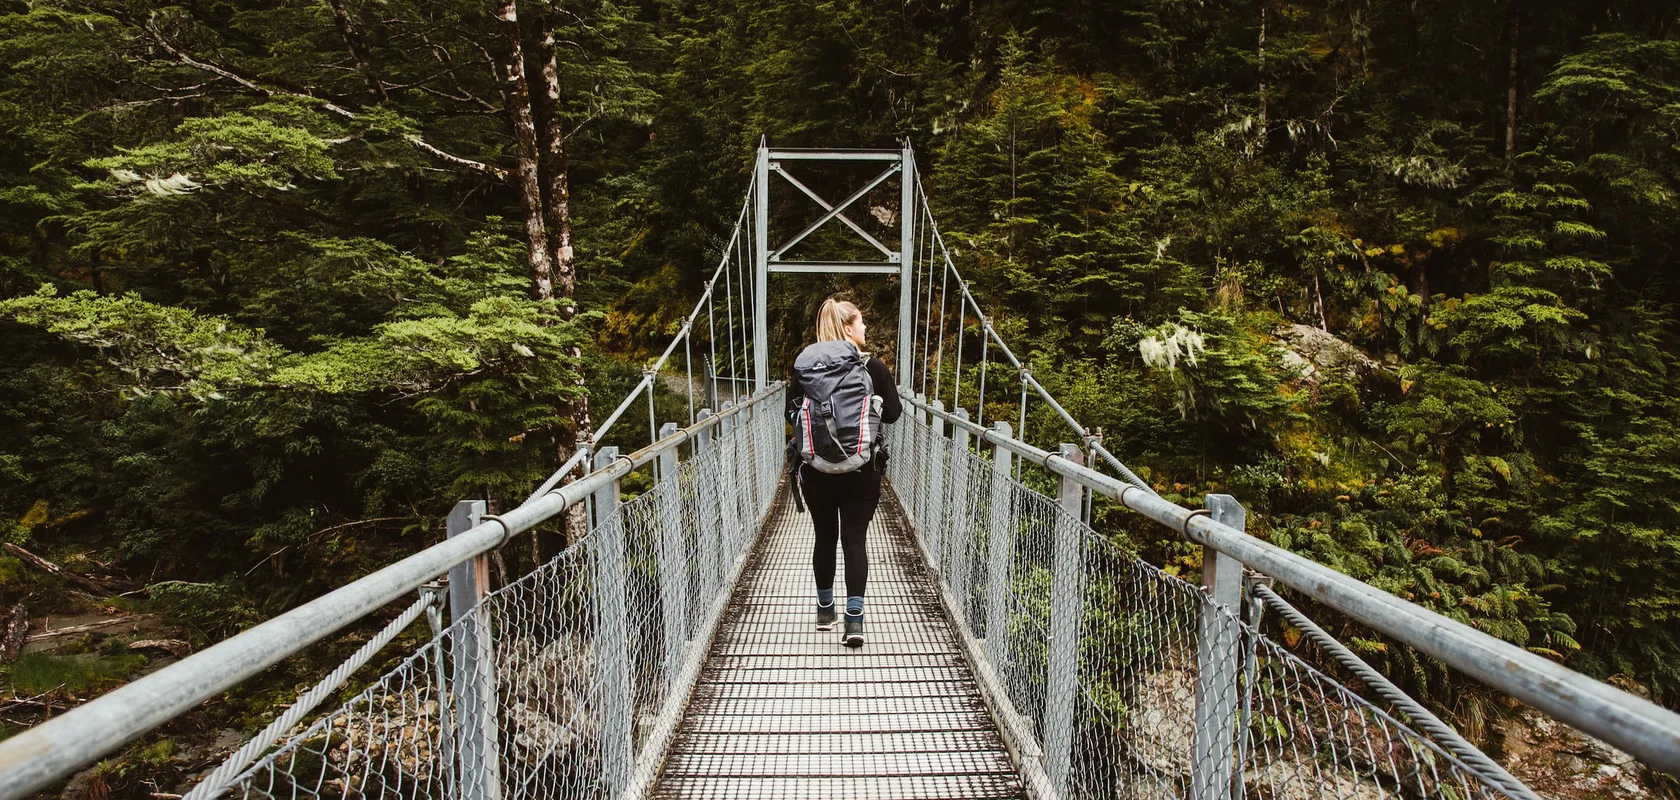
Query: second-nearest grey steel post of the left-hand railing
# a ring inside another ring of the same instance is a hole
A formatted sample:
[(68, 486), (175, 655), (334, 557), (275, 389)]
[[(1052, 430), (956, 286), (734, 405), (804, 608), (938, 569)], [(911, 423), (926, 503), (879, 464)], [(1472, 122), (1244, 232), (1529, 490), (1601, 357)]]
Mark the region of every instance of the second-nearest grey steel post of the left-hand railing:
[[(618, 461), (618, 447), (601, 447), (595, 469)], [(595, 492), (595, 657), (600, 664), (601, 788), (618, 797), (630, 780), (635, 706), (630, 692), (630, 618), (625, 613), (625, 526), (618, 508), (618, 481)]]

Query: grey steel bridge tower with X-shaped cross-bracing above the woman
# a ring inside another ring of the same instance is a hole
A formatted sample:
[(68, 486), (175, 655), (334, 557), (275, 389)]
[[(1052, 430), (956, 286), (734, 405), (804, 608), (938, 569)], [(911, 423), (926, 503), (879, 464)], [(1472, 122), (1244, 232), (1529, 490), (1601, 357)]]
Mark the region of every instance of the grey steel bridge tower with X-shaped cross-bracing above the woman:
[[(862, 188), (850, 193), (845, 200), (838, 203), (830, 203), (815, 190), (801, 183), (795, 175), (788, 171), (788, 165), (806, 165), (806, 163), (880, 163), (884, 170), (864, 183)], [(806, 225), (803, 230), (781, 242), (776, 247), (769, 244), (769, 176), (771, 173), (780, 175), (783, 182), (796, 188), (800, 193), (808, 197), (818, 207), (823, 208), (823, 215), (816, 222)], [(870, 235), (862, 225), (853, 218), (847, 217), (845, 210), (869, 195), (875, 187), (880, 187), (894, 175), (899, 176), (899, 247), (897, 250), (887, 247), (879, 239)], [(756, 244), (756, 252), (753, 254), (753, 341), (758, 346), (753, 348), (753, 388), (763, 390), (769, 385), (769, 319), (768, 319), (768, 299), (769, 299), (769, 274), (771, 272), (862, 272), (862, 274), (879, 274), (879, 276), (899, 276), (899, 343), (897, 343), (897, 361), (892, 368), (899, 375), (906, 375), (906, 365), (911, 363), (911, 319), (914, 314), (912, 308), (912, 279), (914, 279), (914, 250), (916, 250), (916, 155), (911, 150), (909, 139), (904, 141), (902, 150), (864, 150), (864, 148), (771, 148), (768, 139), (761, 139), (758, 146), (758, 165), (754, 168), (753, 178), (753, 234)], [(803, 242), (806, 237), (823, 229), (830, 222), (838, 220), (842, 225), (850, 229), (853, 234), (869, 242), (874, 249), (880, 250), (885, 261), (795, 261), (788, 259), (788, 252)]]

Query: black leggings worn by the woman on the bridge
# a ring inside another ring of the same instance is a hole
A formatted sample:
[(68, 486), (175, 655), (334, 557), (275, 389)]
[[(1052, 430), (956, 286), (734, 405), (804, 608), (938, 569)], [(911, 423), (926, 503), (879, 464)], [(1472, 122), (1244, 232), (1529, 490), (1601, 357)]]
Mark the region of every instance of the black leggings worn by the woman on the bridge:
[(835, 587), (835, 539), (845, 548), (845, 592), (864, 597), (869, 583), (869, 553), (864, 548), (869, 521), (880, 504), (880, 472), (864, 467), (857, 472), (830, 476), (810, 466), (800, 467), (805, 486), (805, 506), (811, 511), (816, 528), (816, 546), (811, 550), (811, 571), (818, 590)]

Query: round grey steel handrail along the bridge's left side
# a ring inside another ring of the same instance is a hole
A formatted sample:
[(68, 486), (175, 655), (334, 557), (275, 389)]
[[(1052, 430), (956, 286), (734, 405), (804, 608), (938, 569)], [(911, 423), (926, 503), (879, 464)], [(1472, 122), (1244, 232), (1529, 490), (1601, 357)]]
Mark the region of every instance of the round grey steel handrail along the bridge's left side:
[(22, 800), (69, 776), (146, 731), (420, 588), (452, 566), (489, 553), (509, 538), (553, 519), (595, 491), (650, 464), (701, 430), (746, 412), (780, 388), (781, 383), (764, 387), (741, 405), (679, 429), (499, 518), (479, 523), (465, 533), (0, 741), (0, 800)]

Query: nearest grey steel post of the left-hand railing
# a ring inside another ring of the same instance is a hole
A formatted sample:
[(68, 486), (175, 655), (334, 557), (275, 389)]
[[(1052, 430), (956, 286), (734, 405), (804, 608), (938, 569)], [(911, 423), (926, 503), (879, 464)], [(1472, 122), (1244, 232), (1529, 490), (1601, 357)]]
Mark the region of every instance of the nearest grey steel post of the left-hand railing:
[[(447, 536), (470, 531), (484, 518), (484, 501), (460, 501), (449, 513)], [(489, 615), (472, 615), (491, 593), (491, 560), (477, 556), (449, 570), (449, 618), (455, 624), (455, 785), (462, 800), (502, 797), (496, 729), (496, 652)]]

